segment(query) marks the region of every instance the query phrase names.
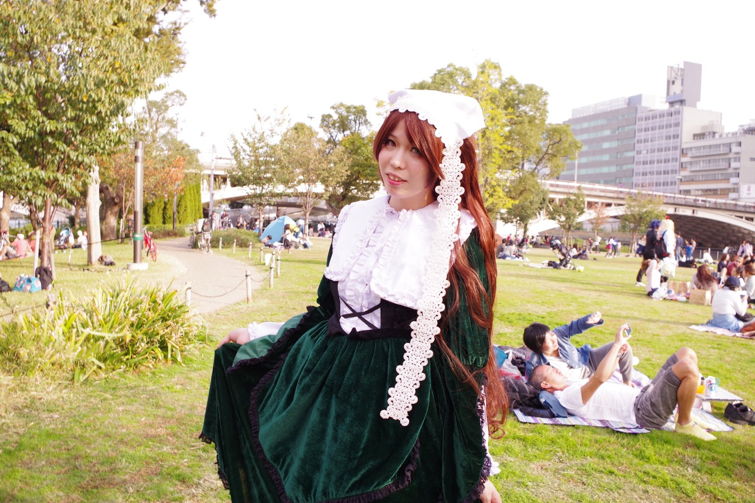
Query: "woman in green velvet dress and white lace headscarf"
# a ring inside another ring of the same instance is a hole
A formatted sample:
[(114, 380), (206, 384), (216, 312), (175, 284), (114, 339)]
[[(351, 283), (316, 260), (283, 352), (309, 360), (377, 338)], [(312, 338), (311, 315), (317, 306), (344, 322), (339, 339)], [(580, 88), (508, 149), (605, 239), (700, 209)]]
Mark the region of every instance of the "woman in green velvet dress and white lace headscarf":
[(482, 110), (430, 90), (389, 99), (373, 146), (387, 196), (341, 211), (318, 305), (215, 352), (202, 439), (233, 501), (501, 501)]

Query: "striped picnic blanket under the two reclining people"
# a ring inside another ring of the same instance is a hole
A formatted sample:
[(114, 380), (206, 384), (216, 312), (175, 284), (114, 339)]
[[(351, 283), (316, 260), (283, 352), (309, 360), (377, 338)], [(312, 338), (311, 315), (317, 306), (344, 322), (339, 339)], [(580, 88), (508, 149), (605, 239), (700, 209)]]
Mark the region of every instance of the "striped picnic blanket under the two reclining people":
[[(650, 379), (645, 374), (634, 370), (632, 373), (632, 382), (637, 388), (643, 388), (650, 384)], [(618, 370), (611, 376), (609, 382), (622, 382), (621, 373)], [(514, 416), (519, 419), (519, 422), (529, 422), (538, 425), (572, 425), (572, 426), (595, 426), (596, 428), (611, 428), (614, 431), (620, 431), (621, 433), (650, 433), (651, 430), (647, 428), (640, 428), (638, 425), (633, 425), (630, 422), (624, 421), (604, 421), (599, 419), (587, 419), (579, 416), (569, 416), (565, 418), (540, 418), (535, 416), (527, 416), (519, 409), (513, 409)], [(692, 419), (700, 418), (705, 422), (714, 426), (713, 431), (733, 431), (734, 428), (727, 425), (725, 422), (717, 419), (710, 413), (705, 412), (703, 409), (692, 409)], [(674, 422), (673, 418), (664, 425), (661, 430), (673, 431)]]

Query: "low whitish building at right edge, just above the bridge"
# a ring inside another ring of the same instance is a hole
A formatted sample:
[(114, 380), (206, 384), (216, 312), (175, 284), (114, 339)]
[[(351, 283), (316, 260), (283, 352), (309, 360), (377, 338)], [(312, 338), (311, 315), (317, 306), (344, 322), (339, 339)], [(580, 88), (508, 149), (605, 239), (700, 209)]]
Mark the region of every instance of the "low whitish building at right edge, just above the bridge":
[(709, 129), (682, 144), (680, 194), (755, 200), (755, 121)]

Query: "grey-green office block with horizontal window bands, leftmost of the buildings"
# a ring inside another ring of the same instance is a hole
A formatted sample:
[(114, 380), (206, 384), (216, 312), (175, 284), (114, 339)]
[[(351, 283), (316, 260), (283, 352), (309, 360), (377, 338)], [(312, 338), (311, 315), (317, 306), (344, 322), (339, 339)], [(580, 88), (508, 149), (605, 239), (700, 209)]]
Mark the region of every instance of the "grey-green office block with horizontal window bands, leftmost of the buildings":
[(636, 118), (656, 103), (655, 97), (637, 94), (573, 109), (565, 124), (572, 126), (582, 150), (559, 179), (631, 187)]

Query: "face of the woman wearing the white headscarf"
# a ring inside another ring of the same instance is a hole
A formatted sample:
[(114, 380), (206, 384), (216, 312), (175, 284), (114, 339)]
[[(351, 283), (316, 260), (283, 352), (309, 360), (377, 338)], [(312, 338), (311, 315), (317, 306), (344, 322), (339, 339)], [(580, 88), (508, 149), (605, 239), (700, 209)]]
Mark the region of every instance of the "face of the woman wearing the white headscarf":
[(394, 210), (418, 210), (434, 201), (430, 164), (411, 144), (404, 124), (388, 133), (377, 154), (380, 176)]

